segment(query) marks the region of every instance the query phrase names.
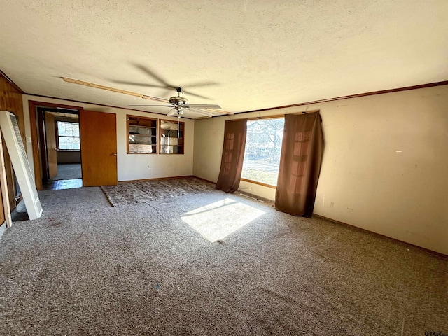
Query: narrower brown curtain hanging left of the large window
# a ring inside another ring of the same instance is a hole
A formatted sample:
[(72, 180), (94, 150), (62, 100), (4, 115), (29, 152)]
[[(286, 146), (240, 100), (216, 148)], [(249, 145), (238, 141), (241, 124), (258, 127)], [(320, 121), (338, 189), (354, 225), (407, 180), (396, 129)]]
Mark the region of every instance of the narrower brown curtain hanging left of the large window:
[(226, 120), (223, 157), (216, 189), (233, 193), (239, 187), (246, 146), (247, 120)]

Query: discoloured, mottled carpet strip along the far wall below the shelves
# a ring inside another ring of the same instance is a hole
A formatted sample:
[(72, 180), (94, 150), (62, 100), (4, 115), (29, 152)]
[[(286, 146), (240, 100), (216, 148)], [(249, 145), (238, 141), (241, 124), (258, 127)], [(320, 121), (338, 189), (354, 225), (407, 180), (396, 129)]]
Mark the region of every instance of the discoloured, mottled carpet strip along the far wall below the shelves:
[(132, 204), (151, 204), (154, 200), (174, 198), (214, 190), (214, 184), (193, 176), (176, 179), (120, 183), (101, 187), (114, 207)]

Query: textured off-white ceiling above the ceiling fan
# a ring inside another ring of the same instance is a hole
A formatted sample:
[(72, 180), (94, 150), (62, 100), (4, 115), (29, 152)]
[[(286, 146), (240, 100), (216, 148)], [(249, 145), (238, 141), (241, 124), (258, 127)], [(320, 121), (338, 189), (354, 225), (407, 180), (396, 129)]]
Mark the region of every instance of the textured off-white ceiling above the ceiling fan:
[(448, 80), (447, 18), (447, 0), (0, 0), (0, 69), (29, 94), (127, 107), (158, 103), (61, 77), (165, 82), (236, 113)]

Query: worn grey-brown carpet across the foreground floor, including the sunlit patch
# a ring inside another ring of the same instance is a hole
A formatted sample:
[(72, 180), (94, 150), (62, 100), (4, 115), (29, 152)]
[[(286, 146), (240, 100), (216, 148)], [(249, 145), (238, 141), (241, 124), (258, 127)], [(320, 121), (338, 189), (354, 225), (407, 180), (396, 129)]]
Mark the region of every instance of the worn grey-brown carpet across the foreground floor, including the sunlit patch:
[(447, 260), (419, 248), (218, 190), (39, 195), (43, 216), (0, 241), (0, 335), (448, 333)]

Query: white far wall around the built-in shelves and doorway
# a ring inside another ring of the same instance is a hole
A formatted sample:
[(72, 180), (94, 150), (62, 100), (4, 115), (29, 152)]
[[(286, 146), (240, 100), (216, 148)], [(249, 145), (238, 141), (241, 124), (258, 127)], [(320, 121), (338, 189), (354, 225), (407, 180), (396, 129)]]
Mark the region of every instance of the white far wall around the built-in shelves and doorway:
[[(183, 119), (185, 123), (185, 153), (183, 155), (158, 155), (158, 154), (127, 154), (127, 120), (126, 115), (146, 116), (151, 118), (177, 120), (175, 117), (167, 117), (155, 113), (131, 111), (95, 104), (70, 102), (63, 99), (50, 99), (23, 95), (23, 109), (25, 114), (25, 134), (31, 138), (31, 127), (29, 122), (28, 101), (49, 102), (71, 106), (81, 106), (88, 111), (99, 111), (114, 113), (117, 116), (117, 169), (118, 181), (130, 181), (139, 179), (155, 179), (170, 176), (188, 176), (193, 174), (193, 143), (194, 143), (194, 120)], [(27, 153), (31, 167), (33, 167), (32, 146), (27, 139)]]

